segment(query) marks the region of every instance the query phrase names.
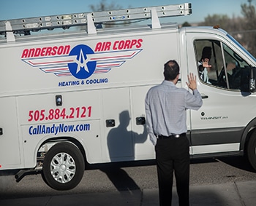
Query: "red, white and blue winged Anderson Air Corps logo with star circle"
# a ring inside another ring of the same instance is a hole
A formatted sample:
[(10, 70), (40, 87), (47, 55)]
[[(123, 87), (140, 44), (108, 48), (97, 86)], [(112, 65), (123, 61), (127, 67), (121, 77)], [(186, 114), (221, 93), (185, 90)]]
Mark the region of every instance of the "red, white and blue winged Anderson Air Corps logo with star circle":
[(92, 74), (108, 73), (142, 51), (142, 39), (99, 41), (94, 49), (86, 44), (23, 49), (21, 60), (56, 76), (88, 79)]

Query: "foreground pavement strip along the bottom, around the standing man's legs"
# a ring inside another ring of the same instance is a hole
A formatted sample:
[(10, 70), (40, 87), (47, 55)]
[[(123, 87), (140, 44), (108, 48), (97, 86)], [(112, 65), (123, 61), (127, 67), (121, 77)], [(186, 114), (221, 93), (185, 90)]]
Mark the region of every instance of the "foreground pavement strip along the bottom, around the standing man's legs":
[[(157, 206), (157, 189), (111, 191), (105, 193), (72, 194), (52, 197), (0, 199), (1, 206)], [(178, 205), (176, 187), (173, 187), (173, 205)], [(192, 206), (255, 206), (256, 181), (222, 183), (218, 185), (190, 186)]]

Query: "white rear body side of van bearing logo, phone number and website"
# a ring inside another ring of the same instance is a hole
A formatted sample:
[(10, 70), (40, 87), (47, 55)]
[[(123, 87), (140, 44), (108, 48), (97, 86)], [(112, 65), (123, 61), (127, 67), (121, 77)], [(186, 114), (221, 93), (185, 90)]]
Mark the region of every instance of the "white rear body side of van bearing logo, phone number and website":
[(145, 118), (146, 92), (162, 82), (164, 63), (179, 62), (176, 26), (22, 36), (0, 52), (1, 68), (10, 68), (0, 76), (1, 109), (12, 110), (0, 122), (12, 137), (5, 148), (15, 147), (8, 164), (35, 167), (42, 143), (65, 138), (78, 140), (89, 163), (154, 158), (136, 118)]

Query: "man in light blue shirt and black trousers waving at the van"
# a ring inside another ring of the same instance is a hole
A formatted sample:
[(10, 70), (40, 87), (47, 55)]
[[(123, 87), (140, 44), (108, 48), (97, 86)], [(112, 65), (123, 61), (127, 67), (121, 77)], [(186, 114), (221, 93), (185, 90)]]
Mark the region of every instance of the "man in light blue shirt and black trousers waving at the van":
[(179, 205), (189, 205), (189, 140), (187, 109), (198, 110), (202, 98), (197, 90), (196, 76), (188, 75), (187, 86), (176, 87), (179, 66), (175, 60), (165, 63), (165, 80), (148, 90), (145, 100), (148, 135), (155, 146), (160, 206), (171, 205), (173, 171)]

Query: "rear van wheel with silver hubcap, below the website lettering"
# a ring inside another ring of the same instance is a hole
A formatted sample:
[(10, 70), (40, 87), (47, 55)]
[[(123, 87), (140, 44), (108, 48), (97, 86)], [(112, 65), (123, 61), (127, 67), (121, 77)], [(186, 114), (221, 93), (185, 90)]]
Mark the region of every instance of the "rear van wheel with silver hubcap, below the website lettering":
[(42, 178), (53, 189), (73, 189), (80, 183), (84, 169), (83, 155), (75, 145), (56, 143), (45, 155)]

